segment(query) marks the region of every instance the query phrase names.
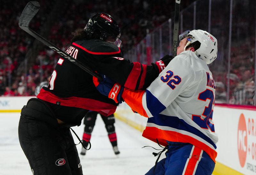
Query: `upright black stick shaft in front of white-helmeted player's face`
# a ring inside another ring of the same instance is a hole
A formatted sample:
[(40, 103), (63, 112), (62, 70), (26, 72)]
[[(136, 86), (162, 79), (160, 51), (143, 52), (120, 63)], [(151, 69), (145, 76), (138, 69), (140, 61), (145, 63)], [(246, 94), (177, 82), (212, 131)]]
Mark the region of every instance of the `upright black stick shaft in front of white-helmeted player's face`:
[(175, 12), (174, 12), (174, 26), (173, 26), (173, 44), (172, 44), (173, 58), (177, 56), (179, 21), (180, 21), (180, 0), (176, 0)]

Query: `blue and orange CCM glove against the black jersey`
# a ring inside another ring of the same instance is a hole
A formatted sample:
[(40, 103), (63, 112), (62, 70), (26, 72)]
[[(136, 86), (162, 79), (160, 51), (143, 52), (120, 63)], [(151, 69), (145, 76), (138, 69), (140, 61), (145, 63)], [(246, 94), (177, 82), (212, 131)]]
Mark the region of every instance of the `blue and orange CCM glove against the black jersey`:
[(116, 103), (122, 103), (122, 93), (124, 91), (124, 86), (119, 83), (115, 83), (113, 80), (107, 76), (100, 74), (103, 81), (99, 81), (98, 78), (93, 76), (93, 84), (97, 90), (108, 98), (113, 99)]

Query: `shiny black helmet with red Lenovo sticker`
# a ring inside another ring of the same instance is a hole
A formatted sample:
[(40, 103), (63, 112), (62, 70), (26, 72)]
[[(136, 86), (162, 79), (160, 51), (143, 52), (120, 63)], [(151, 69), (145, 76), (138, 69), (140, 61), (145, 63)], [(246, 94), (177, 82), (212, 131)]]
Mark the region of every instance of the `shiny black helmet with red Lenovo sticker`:
[(109, 14), (103, 12), (92, 15), (84, 31), (93, 39), (105, 40), (107, 36), (113, 36), (113, 39), (117, 41), (121, 36), (116, 21)]

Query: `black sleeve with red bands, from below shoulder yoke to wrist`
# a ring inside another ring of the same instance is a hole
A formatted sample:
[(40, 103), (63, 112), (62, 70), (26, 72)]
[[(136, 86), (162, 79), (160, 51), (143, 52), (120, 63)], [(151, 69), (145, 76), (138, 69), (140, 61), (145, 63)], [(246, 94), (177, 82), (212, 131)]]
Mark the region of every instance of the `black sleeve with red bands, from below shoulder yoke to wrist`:
[[(167, 61), (165, 64), (169, 63)], [(101, 59), (95, 69), (124, 87), (137, 90), (146, 89), (156, 79), (161, 70), (159, 67), (165, 67), (162, 60), (159, 62), (157, 62), (159, 64), (152, 63), (151, 66), (147, 66), (120, 57), (108, 57)]]

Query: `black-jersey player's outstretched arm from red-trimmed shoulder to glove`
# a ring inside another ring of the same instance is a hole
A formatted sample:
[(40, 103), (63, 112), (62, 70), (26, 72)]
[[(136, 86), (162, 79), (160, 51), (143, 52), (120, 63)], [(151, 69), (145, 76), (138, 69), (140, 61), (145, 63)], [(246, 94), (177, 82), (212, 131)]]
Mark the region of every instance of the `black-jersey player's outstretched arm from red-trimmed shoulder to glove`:
[(78, 60), (132, 90), (146, 89), (172, 59), (168, 55), (147, 66), (123, 58), (120, 48), (108, 45), (106, 42), (90, 50), (89, 47), (85, 48), (86, 45), (73, 43), (73, 46), (79, 49)]

